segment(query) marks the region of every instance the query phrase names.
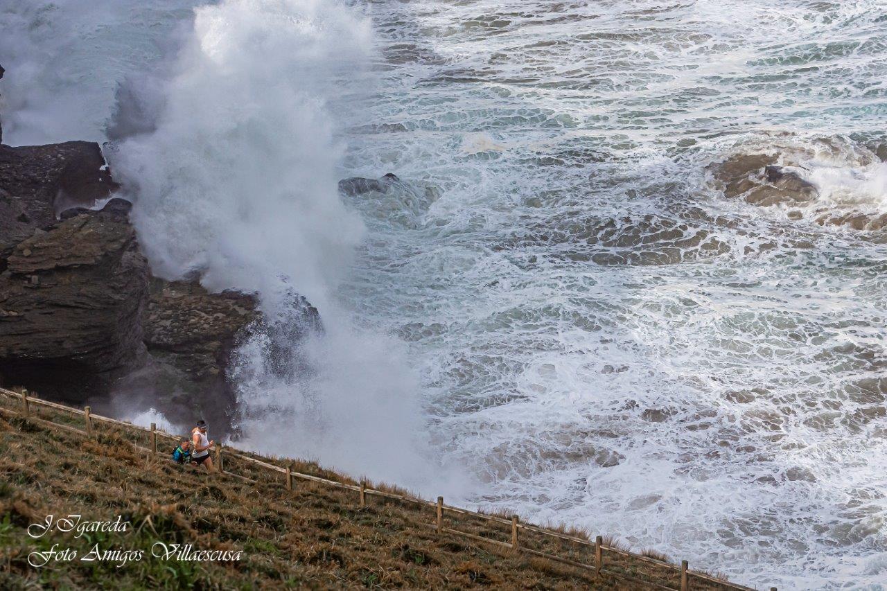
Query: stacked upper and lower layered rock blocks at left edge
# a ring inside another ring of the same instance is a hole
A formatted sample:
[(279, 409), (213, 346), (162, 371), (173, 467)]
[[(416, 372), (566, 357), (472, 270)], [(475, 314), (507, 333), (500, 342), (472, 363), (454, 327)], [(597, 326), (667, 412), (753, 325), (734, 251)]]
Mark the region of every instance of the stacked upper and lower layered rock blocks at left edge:
[(142, 363), (148, 264), (97, 144), (0, 146), (0, 375), (48, 396), (106, 390)]

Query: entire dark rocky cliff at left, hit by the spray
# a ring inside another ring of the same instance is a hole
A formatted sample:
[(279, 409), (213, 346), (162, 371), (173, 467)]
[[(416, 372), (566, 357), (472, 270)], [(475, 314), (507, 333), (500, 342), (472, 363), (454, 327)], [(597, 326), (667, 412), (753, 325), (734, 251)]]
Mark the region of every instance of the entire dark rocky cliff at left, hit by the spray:
[(283, 359), (322, 330), (318, 311), (291, 294), (300, 326), (285, 329), (265, 323), (254, 295), (153, 277), (116, 188), (98, 144), (0, 146), (0, 382), (200, 414), (224, 433), (236, 405), (232, 351), (263, 330)]

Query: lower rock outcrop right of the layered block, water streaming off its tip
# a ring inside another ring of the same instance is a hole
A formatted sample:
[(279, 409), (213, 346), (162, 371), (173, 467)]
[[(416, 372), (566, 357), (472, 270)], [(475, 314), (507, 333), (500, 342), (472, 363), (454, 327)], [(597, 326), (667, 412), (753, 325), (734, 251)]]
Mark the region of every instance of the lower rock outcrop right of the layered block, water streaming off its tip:
[(230, 432), (237, 391), (229, 370), (239, 345), (258, 335), (265, 370), (284, 378), (305, 370), (300, 344), (322, 327), (314, 306), (290, 296), (280, 317), (269, 319), (255, 296), (212, 294), (196, 280), (152, 278), (142, 313), (149, 361), (117, 390), (137, 397), (141, 406), (161, 408), (172, 421), (202, 417), (214, 432)]

